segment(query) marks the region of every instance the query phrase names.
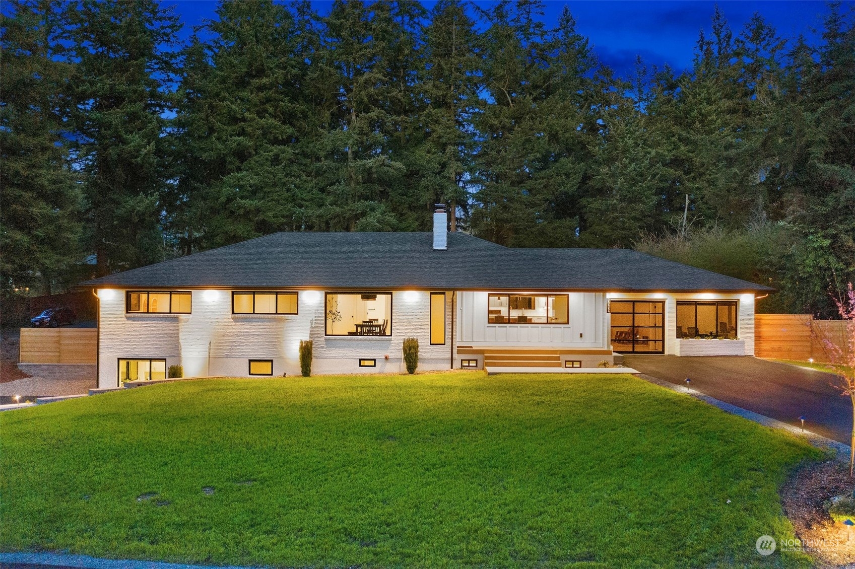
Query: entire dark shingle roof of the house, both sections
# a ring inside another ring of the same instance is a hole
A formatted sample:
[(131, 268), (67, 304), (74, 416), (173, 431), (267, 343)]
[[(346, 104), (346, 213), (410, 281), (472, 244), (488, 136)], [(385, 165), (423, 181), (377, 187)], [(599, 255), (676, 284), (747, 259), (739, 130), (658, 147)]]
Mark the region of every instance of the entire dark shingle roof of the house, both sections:
[[(678, 285), (675, 290), (687, 290), (686, 285), (691, 282), (695, 285), (693, 290), (764, 290), (759, 285), (648, 255), (642, 255), (643, 263), (640, 263), (640, 254), (633, 251), (626, 252), (630, 256), (616, 257), (618, 251), (620, 249), (508, 249), (464, 233), (449, 233), (448, 250), (434, 251), (433, 236), (428, 232), (281, 232), (112, 274), (83, 285), (350, 290), (667, 290), (669, 283), (674, 282)], [(580, 254), (584, 258), (574, 256)], [(625, 267), (627, 262), (634, 267)], [(621, 267), (605, 266), (615, 263)], [(663, 267), (656, 263), (668, 265)], [(660, 268), (640, 266), (644, 264)], [(636, 276), (641, 277), (644, 286), (633, 285)], [(657, 278), (657, 285), (646, 286)]]

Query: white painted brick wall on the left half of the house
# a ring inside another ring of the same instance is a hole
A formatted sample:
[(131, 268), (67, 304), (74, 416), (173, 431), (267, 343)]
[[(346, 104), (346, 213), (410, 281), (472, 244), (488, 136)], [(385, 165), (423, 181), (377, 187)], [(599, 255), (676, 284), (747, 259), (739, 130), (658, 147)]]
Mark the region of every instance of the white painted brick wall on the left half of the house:
[[(245, 377), (249, 360), (273, 360), (274, 376), (295, 375), (300, 340), (313, 341), (312, 371), (400, 372), (405, 337), (419, 340), (419, 368), (451, 364), (451, 294), (445, 302), (445, 345), (430, 345), (430, 293), (392, 294), (392, 337), (326, 337), (324, 293), (298, 293), (298, 314), (232, 314), (230, 290), (193, 290), (192, 314), (126, 314), (125, 291), (100, 293), (98, 387), (118, 383), (119, 359), (165, 359), (185, 377)], [(387, 361), (385, 356), (389, 356)], [(377, 367), (359, 367), (360, 358)]]

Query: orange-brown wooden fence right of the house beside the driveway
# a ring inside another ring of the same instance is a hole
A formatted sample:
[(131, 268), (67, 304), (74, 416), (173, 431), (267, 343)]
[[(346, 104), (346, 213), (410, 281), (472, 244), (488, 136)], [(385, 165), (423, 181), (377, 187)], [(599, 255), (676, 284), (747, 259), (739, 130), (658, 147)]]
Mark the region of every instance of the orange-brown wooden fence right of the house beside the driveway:
[(754, 355), (775, 360), (828, 361), (821, 337), (845, 346), (846, 322), (814, 320), (811, 314), (757, 314)]

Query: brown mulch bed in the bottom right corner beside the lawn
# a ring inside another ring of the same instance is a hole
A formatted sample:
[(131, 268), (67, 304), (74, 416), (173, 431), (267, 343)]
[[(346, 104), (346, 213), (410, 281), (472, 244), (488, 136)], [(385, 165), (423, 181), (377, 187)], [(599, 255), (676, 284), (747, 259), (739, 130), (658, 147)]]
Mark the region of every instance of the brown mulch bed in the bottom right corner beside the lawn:
[(851, 493), (853, 483), (848, 463), (827, 460), (801, 467), (781, 488), (784, 513), (817, 567), (855, 563), (855, 531), (849, 538), (846, 525), (835, 523), (827, 509), (833, 496)]

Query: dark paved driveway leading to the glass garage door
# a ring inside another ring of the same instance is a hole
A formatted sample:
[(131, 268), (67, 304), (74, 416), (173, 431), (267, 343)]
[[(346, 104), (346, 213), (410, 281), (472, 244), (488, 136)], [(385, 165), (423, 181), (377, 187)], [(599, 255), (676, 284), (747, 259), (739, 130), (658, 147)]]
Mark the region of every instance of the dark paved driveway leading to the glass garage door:
[(831, 386), (836, 376), (750, 356), (625, 355), (624, 365), (672, 384), (849, 444), (852, 403)]

